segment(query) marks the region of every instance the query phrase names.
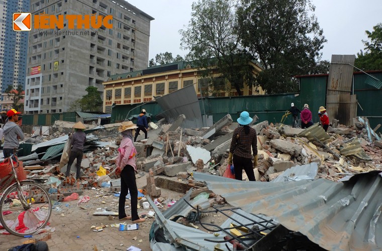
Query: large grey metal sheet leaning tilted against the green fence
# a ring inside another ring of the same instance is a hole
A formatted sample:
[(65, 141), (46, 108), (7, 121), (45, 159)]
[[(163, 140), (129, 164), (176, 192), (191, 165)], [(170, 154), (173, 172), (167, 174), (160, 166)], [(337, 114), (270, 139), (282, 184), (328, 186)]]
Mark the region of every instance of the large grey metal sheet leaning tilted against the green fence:
[(180, 114), (185, 115), (183, 128), (202, 128), (202, 112), (194, 85), (181, 88), (162, 97), (155, 97), (163, 112), (157, 114), (167, 119), (175, 120)]

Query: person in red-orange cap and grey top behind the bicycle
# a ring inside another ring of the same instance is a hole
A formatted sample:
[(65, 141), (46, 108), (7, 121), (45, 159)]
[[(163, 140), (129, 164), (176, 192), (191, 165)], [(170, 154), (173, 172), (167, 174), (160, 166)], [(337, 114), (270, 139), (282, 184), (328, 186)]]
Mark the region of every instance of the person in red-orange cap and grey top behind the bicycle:
[(4, 125), (4, 158), (8, 158), (13, 154), (14, 149), (19, 148), (19, 140), (24, 140), (24, 133), (16, 123), (19, 121), (19, 114), (15, 109), (10, 109), (7, 112), (8, 122)]

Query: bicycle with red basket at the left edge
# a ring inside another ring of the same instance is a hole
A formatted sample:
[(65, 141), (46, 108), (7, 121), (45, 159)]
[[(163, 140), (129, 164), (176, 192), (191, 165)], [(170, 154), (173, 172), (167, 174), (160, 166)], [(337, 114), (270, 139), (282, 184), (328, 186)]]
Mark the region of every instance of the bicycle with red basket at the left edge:
[(12, 171), (0, 180), (0, 222), (14, 235), (32, 235), (48, 224), (52, 206), (43, 187), (33, 180), (18, 179), (18, 172), (21, 176), (23, 169), (18, 169), (22, 167), (15, 152), (0, 166), (4, 168), (9, 161), (12, 167)]

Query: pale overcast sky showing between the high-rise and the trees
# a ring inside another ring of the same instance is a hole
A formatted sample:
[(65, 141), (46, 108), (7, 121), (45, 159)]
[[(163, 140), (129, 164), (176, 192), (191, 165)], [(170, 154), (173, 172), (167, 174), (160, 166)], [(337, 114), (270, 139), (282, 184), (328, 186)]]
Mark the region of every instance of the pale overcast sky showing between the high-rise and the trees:
[[(155, 18), (151, 22), (149, 60), (156, 54), (171, 52), (184, 57), (179, 30), (190, 20), (192, 0), (130, 0), (130, 4)], [(332, 54), (356, 54), (363, 49), (365, 30), (382, 22), (382, 0), (313, 0), (315, 15), (328, 40), (323, 60)]]

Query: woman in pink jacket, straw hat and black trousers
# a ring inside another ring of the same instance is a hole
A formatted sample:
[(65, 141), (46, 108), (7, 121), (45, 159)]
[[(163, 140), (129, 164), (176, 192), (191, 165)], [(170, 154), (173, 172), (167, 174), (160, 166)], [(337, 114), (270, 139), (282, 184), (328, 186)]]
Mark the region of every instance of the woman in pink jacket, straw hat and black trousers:
[[(118, 131), (121, 132), (123, 139), (118, 148), (117, 169), (116, 174), (121, 174), (121, 194), (118, 205), (118, 216), (120, 220), (131, 219), (133, 223), (145, 221), (138, 216), (138, 189), (135, 182), (135, 155), (137, 151), (133, 145), (133, 134), (137, 127), (132, 121), (122, 122)], [(131, 195), (131, 216), (127, 216), (125, 212), (126, 195), (130, 191)]]

